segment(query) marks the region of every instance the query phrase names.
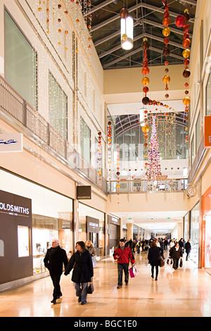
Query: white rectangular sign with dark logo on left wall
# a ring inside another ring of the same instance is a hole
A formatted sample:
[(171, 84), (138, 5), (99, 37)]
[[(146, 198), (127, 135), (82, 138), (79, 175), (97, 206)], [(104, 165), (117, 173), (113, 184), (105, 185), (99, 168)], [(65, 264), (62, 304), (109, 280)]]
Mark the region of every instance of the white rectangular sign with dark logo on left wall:
[(0, 153), (23, 151), (22, 133), (1, 133), (0, 134)]

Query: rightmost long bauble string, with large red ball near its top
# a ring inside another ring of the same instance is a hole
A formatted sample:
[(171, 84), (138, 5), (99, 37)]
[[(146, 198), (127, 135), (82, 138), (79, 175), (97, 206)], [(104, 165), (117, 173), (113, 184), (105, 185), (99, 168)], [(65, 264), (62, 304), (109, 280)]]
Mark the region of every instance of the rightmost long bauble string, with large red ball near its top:
[[(182, 73), (184, 78), (188, 78), (191, 75), (191, 71), (188, 69), (188, 65), (190, 63), (190, 56), (191, 56), (191, 51), (188, 49), (188, 47), (191, 45), (191, 40), (189, 39), (189, 26), (188, 25), (188, 20), (190, 20), (191, 15), (188, 13), (188, 9), (186, 8), (184, 10), (184, 15), (178, 15), (175, 24), (177, 27), (183, 27), (183, 32), (184, 32), (184, 41), (182, 42), (182, 45), (184, 46), (184, 51), (182, 53), (182, 56), (184, 57), (184, 65), (185, 69), (184, 72)], [(185, 105), (185, 116), (184, 119), (186, 120), (186, 136), (185, 136), (185, 142), (188, 142), (188, 112), (189, 112), (189, 105), (191, 104), (191, 98), (188, 95), (188, 82), (185, 83), (185, 94), (186, 96), (183, 99), (183, 104)]]

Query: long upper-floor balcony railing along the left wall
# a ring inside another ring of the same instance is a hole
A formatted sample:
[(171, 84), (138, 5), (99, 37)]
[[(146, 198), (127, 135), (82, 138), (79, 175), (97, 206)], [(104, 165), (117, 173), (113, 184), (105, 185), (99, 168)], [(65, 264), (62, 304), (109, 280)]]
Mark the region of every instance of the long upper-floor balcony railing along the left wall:
[(81, 173), (95, 185), (106, 191), (106, 179), (98, 177), (97, 170), (65, 140), (59, 133), (23, 99), (11, 85), (0, 76), (0, 108), (32, 132), (42, 149), (51, 149), (57, 158), (62, 159), (68, 168)]

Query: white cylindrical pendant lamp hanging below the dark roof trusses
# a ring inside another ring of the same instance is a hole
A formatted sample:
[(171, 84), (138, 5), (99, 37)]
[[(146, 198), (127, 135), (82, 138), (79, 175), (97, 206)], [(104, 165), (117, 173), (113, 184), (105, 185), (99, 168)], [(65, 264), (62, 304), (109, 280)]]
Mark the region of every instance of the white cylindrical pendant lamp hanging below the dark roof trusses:
[(120, 11), (121, 18), (121, 46), (122, 49), (129, 51), (134, 46), (134, 20), (129, 16), (126, 8)]

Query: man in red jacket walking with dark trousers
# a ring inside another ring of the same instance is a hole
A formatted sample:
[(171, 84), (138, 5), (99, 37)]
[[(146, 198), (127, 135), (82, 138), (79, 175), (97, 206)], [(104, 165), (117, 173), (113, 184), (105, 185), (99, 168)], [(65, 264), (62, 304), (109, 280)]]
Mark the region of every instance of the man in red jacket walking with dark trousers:
[(120, 239), (120, 244), (115, 249), (113, 258), (117, 260), (117, 270), (118, 270), (118, 284), (117, 289), (122, 288), (122, 273), (124, 270), (124, 282), (125, 285), (128, 285), (129, 282), (129, 261), (131, 261), (132, 266), (135, 264), (135, 259), (132, 254), (131, 249), (128, 246), (125, 246), (124, 239)]

